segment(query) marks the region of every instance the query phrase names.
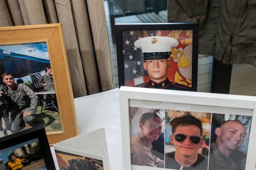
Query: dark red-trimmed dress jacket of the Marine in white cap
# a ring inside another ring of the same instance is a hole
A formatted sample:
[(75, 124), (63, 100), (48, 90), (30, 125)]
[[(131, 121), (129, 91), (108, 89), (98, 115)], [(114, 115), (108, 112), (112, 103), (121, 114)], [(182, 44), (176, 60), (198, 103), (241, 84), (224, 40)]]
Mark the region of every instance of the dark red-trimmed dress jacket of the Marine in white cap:
[(154, 82), (151, 79), (149, 79), (149, 82), (145, 82), (139, 85), (136, 85), (135, 87), (140, 88), (159, 88), (159, 89), (168, 89), (168, 90), (183, 90), (183, 91), (189, 91), (191, 90), (190, 87), (186, 85), (181, 85), (175, 82), (170, 82), (167, 78), (163, 82)]

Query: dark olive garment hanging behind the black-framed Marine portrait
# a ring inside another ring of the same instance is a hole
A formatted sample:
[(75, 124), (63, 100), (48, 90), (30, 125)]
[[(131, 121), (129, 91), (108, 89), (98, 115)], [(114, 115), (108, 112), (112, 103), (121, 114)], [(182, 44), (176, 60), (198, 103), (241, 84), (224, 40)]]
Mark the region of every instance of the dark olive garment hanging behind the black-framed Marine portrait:
[(256, 66), (256, 0), (168, 0), (168, 22), (198, 22), (199, 54)]

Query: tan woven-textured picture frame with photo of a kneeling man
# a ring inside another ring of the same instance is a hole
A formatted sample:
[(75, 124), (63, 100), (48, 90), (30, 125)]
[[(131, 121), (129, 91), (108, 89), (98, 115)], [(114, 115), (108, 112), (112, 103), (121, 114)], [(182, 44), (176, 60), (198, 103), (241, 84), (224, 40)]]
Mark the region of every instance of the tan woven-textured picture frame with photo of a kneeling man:
[(0, 137), (37, 125), (49, 144), (78, 135), (60, 23), (1, 27), (0, 74)]

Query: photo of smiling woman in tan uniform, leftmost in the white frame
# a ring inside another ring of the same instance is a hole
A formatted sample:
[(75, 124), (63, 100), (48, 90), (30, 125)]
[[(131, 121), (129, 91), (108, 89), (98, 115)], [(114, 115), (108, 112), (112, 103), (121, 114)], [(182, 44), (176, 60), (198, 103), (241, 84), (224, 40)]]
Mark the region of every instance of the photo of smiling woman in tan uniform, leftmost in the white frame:
[(139, 108), (133, 120), (130, 120), (133, 122), (131, 164), (164, 167), (163, 115), (161, 113), (164, 112), (157, 109)]

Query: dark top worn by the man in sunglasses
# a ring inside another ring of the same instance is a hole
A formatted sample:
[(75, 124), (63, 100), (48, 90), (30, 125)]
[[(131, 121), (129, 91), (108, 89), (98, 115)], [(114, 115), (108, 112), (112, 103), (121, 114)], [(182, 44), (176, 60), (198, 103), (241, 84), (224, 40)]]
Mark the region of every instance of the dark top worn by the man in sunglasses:
[[(175, 160), (175, 152), (166, 153), (165, 168), (180, 170), (181, 165)], [(198, 159), (191, 167), (183, 167), (182, 170), (207, 170), (208, 158), (198, 153)]]

